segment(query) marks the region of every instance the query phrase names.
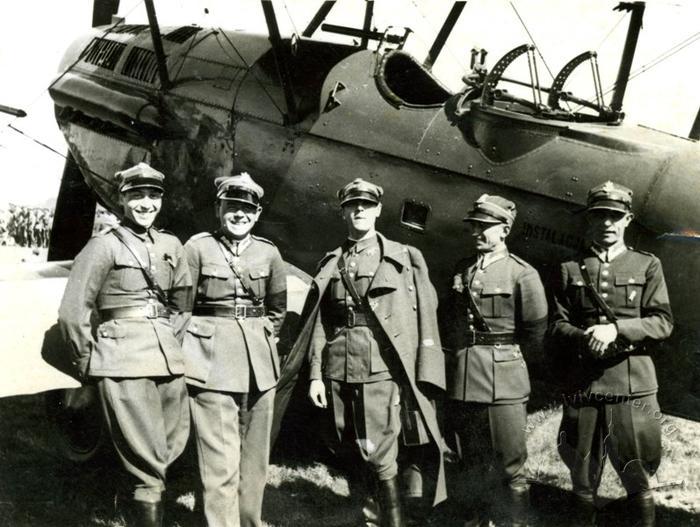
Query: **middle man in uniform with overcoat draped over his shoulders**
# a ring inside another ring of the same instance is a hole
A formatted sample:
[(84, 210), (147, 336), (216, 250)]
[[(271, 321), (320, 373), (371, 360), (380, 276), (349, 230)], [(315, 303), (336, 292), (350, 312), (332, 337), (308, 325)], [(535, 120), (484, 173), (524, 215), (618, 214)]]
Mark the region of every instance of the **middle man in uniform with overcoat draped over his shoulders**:
[(437, 298), (422, 254), (375, 231), (382, 193), (362, 179), (338, 192), (348, 239), (319, 264), (291, 354), (308, 352), (309, 397), (317, 407), (330, 406), (331, 447), (349, 447), (355, 464), (369, 469), (379, 489), (381, 525), (398, 527), (404, 525), (397, 478), (402, 406), (413, 430), (424, 434), (414, 443), (433, 447), (434, 502), (445, 497), (431, 404), (444, 389), (444, 357)]

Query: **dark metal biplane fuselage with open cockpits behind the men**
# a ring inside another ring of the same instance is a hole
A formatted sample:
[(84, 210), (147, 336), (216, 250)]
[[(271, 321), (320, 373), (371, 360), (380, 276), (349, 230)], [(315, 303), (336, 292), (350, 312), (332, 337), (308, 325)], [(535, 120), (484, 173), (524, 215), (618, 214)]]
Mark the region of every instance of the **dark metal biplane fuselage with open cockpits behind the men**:
[(160, 224), (185, 240), (215, 226), (213, 179), (247, 170), (265, 188), (260, 234), (313, 274), (343, 237), (336, 190), (363, 177), (385, 189), (379, 229), (420, 248), (444, 293), (468, 255), (461, 220), (482, 193), (517, 203), (510, 247), (547, 275), (584, 243), (588, 189), (612, 179), (634, 191), (628, 243), (659, 256), (669, 284), (676, 331), (657, 355), (662, 390), (667, 370), (673, 387), (689, 389), (700, 349), (695, 141), (478, 96), (462, 102), (399, 50), (285, 41), (285, 86), (266, 36), (191, 26), (161, 34), (167, 89), (148, 27), (128, 25), (76, 41), (51, 88), (70, 152), (108, 208), (117, 211), (113, 174), (146, 160), (167, 175)]

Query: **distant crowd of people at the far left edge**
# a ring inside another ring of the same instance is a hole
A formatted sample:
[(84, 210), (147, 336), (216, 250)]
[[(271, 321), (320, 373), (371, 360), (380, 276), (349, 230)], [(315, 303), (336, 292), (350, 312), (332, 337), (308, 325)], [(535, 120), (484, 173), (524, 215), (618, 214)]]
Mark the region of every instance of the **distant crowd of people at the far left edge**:
[(10, 205), (0, 215), (0, 240), (2, 245), (21, 247), (48, 247), (53, 210), (39, 207)]

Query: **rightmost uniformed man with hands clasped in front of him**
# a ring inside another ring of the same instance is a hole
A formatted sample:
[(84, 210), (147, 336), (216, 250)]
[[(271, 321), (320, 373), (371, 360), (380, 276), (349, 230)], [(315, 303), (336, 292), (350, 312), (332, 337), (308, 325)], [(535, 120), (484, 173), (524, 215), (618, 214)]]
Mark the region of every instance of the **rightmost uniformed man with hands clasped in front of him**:
[(552, 334), (565, 376), (559, 453), (571, 471), (581, 524), (606, 454), (630, 501), (632, 523), (655, 522), (649, 475), (661, 459), (657, 382), (651, 345), (671, 334), (673, 319), (661, 262), (625, 245), (632, 191), (608, 181), (588, 193), (591, 245), (564, 262), (555, 288)]

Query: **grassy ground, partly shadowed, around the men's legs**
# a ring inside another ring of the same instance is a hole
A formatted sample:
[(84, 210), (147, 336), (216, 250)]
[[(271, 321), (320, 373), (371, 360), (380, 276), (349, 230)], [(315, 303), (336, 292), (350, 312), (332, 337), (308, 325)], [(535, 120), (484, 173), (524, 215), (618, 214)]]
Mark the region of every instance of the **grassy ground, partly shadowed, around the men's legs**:
[[(0, 525), (121, 526), (114, 514), (113, 485), (117, 471), (109, 457), (101, 463), (75, 466), (56, 453), (43, 397), (0, 399)], [(548, 407), (530, 415), (528, 474), (537, 525), (567, 525), (564, 503), (568, 474), (555, 449), (560, 409)], [(700, 423), (673, 417), (664, 426), (664, 458), (654, 484), (660, 526), (700, 525)], [(670, 428), (669, 428), (670, 429)], [(191, 451), (173, 468), (168, 492), (168, 526), (193, 527), (196, 464)], [(451, 465), (448, 474), (454, 477)], [(463, 475), (462, 475), (463, 476)], [(482, 484), (490, 474), (472, 475)], [(622, 496), (614, 472), (606, 468), (601, 503)], [(313, 459), (277, 460), (272, 465), (264, 503), (265, 525), (276, 527), (341, 527), (358, 525), (359, 503), (338, 472)], [(605, 525), (618, 525), (612, 516)], [(436, 511), (431, 525), (460, 525), (454, 510)]]

